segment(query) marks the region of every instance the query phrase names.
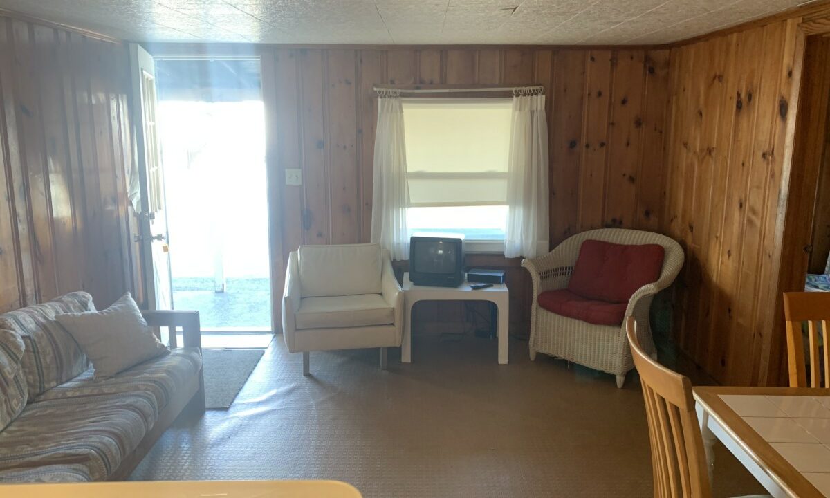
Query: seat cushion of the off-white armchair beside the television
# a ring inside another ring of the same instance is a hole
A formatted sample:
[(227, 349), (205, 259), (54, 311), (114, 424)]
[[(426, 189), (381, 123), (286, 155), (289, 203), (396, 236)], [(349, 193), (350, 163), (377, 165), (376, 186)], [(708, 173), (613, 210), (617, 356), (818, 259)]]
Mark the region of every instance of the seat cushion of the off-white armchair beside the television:
[(395, 310), (379, 294), (305, 297), (295, 320), (298, 330), (389, 325)]

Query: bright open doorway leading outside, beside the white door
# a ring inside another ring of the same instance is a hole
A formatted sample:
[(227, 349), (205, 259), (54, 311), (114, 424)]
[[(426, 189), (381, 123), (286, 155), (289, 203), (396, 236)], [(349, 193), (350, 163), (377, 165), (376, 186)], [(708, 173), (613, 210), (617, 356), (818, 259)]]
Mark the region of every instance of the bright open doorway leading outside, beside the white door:
[(272, 333), (260, 61), (156, 58), (155, 71), (172, 308), (256, 347), (251, 334)]

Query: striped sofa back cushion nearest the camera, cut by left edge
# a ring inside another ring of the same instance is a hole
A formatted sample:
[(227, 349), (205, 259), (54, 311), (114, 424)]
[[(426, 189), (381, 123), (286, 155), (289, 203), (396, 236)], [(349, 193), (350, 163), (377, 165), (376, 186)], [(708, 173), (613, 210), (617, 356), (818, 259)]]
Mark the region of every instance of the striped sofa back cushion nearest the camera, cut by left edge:
[(28, 389), (23, 375), (23, 339), (11, 330), (0, 330), (0, 431), (26, 407)]

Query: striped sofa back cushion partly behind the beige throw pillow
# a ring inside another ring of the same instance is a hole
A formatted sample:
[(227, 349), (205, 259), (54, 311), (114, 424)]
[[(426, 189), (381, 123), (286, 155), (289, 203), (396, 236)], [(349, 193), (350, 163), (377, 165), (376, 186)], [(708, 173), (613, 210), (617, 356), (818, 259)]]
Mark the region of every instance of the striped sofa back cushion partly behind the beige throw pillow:
[(57, 323), (55, 315), (90, 310), (95, 310), (91, 295), (71, 292), (41, 305), (0, 315), (0, 329), (20, 335), (26, 346), (22, 368), (30, 397), (45, 393), (89, 368), (81, 347)]

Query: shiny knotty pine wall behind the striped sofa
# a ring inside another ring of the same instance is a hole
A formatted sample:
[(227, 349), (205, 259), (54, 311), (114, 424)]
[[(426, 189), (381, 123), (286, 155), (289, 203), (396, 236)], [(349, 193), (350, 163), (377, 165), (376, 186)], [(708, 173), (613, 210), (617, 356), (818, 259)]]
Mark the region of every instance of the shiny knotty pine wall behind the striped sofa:
[(120, 44), (0, 17), (0, 312), (135, 290), (128, 61)]

